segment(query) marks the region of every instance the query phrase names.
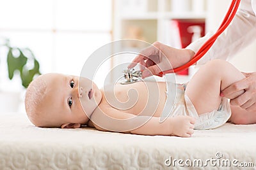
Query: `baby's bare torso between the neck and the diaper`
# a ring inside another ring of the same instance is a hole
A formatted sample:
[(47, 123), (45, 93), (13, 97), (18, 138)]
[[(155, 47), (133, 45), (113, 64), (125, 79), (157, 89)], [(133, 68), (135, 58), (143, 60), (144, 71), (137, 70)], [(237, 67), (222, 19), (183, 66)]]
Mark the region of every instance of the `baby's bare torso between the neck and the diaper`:
[(134, 115), (160, 117), (166, 101), (166, 85), (164, 82), (152, 81), (147, 84), (138, 82), (116, 85), (115, 96), (111, 90), (107, 90), (105, 94), (108, 104), (117, 110)]

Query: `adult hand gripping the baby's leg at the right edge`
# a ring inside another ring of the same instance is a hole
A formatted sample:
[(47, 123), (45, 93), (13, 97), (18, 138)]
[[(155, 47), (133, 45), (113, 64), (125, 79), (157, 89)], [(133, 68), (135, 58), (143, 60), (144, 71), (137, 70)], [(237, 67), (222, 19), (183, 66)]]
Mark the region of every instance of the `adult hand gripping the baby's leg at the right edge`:
[(222, 90), (221, 96), (230, 99), (230, 104), (247, 111), (256, 111), (256, 72), (243, 73), (246, 78)]

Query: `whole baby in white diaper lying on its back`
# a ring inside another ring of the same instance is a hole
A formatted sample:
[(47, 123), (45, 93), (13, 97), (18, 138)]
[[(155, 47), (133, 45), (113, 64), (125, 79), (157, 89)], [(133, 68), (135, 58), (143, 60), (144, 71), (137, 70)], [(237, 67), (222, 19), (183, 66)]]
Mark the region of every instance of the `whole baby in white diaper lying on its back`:
[[(49, 73), (38, 76), (26, 92), (26, 113), (37, 127), (95, 127), (100, 131), (143, 135), (190, 137), (194, 129), (213, 129), (225, 122), (254, 124), (256, 114), (231, 106), (221, 90), (245, 78), (232, 64), (211, 60), (184, 85), (170, 83), (177, 93), (173, 103), (166, 103), (166, 83), (139, 81), (99, 90), (87, 78)], [(157, 92), (148, 90), (154, 86)], [(136, 90), (132, 94), (132, 90)], [(113, 97), (108, 97), (113, 96)], [(132, 99), (136, 97), (136, 101)], [(129, 101), (131, 101), (129, 103)], [(164, 106), (170, 115), (160, 122)], [(173, 106), (173, 107), (172, 107)], [(145, 111), (146, 110), (146, 111)]]

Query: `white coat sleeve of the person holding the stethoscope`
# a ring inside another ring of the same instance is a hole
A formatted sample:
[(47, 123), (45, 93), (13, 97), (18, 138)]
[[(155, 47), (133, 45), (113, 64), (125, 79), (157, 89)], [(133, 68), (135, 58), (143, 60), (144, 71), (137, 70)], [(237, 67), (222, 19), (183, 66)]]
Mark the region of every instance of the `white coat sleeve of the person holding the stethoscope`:
[[(191, 43), (187, 49), (198, 52), (199, 48), (212, 36), (213, 32), (207, 33), (204, 37)], [(227, 29), (220, 34), (212, 45), (210, 50), (205, 53), (196, 65), (205, 64), (205, 62), (212, 59), (228, 60), (237, 52), (248, 46), (256, 39), (256, 17), (253, 12), (252, 3), (250, 0), (241, 0), (236, 16), (227, 27)]]

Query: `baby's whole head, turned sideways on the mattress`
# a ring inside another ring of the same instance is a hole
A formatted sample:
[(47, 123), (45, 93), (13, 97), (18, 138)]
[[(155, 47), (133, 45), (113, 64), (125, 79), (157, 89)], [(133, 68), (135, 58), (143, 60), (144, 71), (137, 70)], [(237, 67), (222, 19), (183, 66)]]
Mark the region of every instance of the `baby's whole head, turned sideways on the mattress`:
[(77, 128), (88, 123), (101, 97), (97, 85), (88, 78), (44, 74), (26, 91), (26, 113), (37, 127)]

